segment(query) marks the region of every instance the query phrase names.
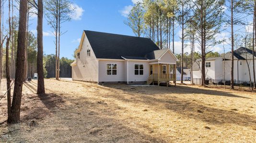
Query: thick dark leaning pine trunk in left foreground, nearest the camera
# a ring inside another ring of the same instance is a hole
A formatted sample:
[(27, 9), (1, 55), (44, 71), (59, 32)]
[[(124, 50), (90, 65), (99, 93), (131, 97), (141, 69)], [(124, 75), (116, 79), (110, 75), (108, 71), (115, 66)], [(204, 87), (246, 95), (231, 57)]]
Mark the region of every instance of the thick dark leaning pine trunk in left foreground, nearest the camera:
[(8, 123), (20, 122), (23, 73), (25, 62), (25, 42), (26, 42), (26, 23), (27, 23), (27, 0), (20, 0), (19, 10), (19, 31), (18, 31), (18, 47), (17, 47), (17, 62), (15, 73), (15, 84), (12, 98), (11, 114), (8, 116)]

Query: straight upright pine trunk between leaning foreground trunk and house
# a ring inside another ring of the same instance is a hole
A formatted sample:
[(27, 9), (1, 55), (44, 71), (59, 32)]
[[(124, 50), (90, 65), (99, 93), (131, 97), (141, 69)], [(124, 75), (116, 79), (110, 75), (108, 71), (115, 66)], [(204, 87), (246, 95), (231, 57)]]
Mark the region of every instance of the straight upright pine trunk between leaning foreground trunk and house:
[(45, 93), (44, 68), (43, 68), (43, 0), (38, 0), (37, 14), (37, 94)]

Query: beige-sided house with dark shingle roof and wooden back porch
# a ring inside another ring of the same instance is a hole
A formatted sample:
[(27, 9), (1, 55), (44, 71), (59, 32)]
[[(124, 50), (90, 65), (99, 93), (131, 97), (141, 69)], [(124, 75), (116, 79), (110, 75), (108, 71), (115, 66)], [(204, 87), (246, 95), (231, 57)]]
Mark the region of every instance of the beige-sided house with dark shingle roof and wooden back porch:
[(170, 72), (177, 58), (169, 49), (160, 50), (151, 39), (83, 31), (72, 66), (72, 79), (86, 82), (175, 81)]

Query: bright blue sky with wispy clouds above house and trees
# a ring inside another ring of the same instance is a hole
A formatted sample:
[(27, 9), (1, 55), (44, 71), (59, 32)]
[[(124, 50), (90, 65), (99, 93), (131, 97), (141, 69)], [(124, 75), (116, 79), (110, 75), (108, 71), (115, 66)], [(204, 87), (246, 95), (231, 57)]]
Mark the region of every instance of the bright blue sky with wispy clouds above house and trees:
[[(72, 54), (76, 47), (79, 46), (81, 34), (83, 30), (101, 31), (123, 35), (134, 36), (131, 29), (124, 24), (127, 19), (129, 10), (132, 9), (134, 3), (142, 0), (71, 0), (73, 6), (76, 7), (75, 15), (72, 20), (62, 24), (62, 31), (67, 31), (60, 39), (60, 56), (73, 58)], [(5, 16), (4, 21), (8, 17), (8, 3), (5, 3)], [(15, 12), (18, 14), (18, 11)], [(252, 19), (249, 18), (249, 21)], [(29, 30), (33, 31), (36, 35), (36, 15), (30, 19)], [(180, 35), (181, 30), (176, 26), (175, 30), (175, 53), (181, 52)], [(54, 35), (52, 29), (47, 25), (47, 20), (44, 19), (44, 53), (55, 54)], [(227, 29), (217, 35), (218, 39), (229, 38), (230, 30)], [(252, 29), (251, 29), (252, 31)], [(187, 42), (188, 44), (189, 42)], [(225, 50), (230, 51), (230, 46), (225, 43), (227, 47)], [(212, 51), (223, 52), (222, 45), (216, 45), (211, 48)], [(187, 47), (185, 52), (190, 52)], [(196, 49), (199, 51), (199, 49)]]

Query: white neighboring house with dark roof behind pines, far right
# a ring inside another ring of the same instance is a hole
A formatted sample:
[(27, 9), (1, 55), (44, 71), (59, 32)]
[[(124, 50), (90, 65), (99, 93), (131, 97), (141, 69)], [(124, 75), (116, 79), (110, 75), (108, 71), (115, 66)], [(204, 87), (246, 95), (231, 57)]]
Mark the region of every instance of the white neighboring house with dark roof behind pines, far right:
[[(250, 72), (251, 72), (251, 79), (253, 82), (253, 52), (252, 50), (245, 49), (244, 47), (238, 48), (234, 51), (234, 82), (243, 83), (249, 82), (249, 70), (246, 63), (246, 56), (247, 62), (249, 64)], [(256, 63), (256, 57), (255, 57)], [(199, 67), (200, 65), (200, 67)], [(193, 64), (193, 78), (201, 78), (201, 59), (198, 59)], [(231, 80), (231, 52), (227, 52), (225, 54), (225, 59), (223, 57), (216, 57), (216, 58), (208, 58), (205, 62), (205, 69), (206, 69), (206, 79), (212, 79), (216, 81), (230, 81)], [(225, 74), (224, 74), (225, 70)], [(256, 70), (256, 67), (255, 67)], [(224, 79), (225, 75), (225, 79)]]

